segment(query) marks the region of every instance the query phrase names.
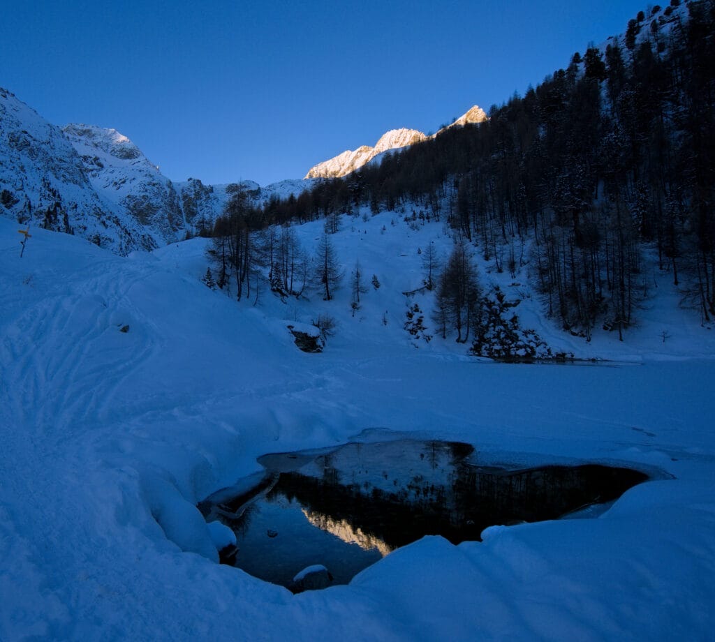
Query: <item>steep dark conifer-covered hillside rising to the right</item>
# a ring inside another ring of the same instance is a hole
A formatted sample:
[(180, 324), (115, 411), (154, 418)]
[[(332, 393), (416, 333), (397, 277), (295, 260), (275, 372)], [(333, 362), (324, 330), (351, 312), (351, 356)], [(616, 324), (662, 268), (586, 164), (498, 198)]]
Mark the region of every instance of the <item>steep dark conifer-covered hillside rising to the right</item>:
[(450, 127), (326, 179), (267, 219), (368, 205), (445, 217), (495, 270), (528, 265), (570, 332), (623, 332), (656, 269), (715, 314), (715, 16), (711, 0), (641, 11), (481, 124)]

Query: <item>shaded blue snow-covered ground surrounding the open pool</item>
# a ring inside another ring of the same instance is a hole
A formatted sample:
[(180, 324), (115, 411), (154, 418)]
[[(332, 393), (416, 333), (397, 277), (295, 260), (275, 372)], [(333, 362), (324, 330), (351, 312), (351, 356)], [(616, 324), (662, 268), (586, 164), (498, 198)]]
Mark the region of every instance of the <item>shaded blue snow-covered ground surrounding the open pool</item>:
[[(421, 285), (418, 248), (448, 247), (443, 224), (346, 217), (334, 301), (264, 287), (257, 305), (200, 282), (203, 239), (122, 258), (31, 229), (20, 259), (17, 229), (0, 218), (1, 640), (712, 639), (715, 330), (674, 305), (669, 275), (649, 276), (624, 344), (586, 345), (543, 320), (525, 275), (480, 265), (552, 347), (618, 361), (501, 365), (403, 330), (399, 293)], [(322, 222), (297, 230), (311, 248)], [(352, 317), (358, 258), (381, 287)], [(286, 326), (316, 310), (337, 332), (310, 355)], [(395, 434), (472, 443), (480, 463), (656, 480), (596, 519), (423, 538), (324, 591), (216, 563), (195, 504), (257, 456)]]

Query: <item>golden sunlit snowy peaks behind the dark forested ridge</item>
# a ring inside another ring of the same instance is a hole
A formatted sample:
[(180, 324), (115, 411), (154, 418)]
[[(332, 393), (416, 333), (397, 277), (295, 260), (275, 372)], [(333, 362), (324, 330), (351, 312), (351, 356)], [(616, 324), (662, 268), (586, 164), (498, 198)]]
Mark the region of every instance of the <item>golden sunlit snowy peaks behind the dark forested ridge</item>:
[[(485, 121), (487, 115), (483, 109), (477, 107), (471, 107), (468, 112), (460, 116), (455, 122), (449, 124), (447, 127), (443, 127), (436, 134), (433, 134), (431, 138), (438, 136), (445, 129), (450, 127), (460, 127), (468, 123), (480, 123)], [(327, 161), (323, 161), (315, 165), (310, 169), (310, 171), (305, 174), (305, 178), (335, 178), (346, 176), (351, 172), (355, 172), (355, 169), (363, 167), (363, 165), (369, 163), (373, 158), (387, 152), (390, 149), (401, 149), (403, 147), (408, 147), (415, 143), (423, 142), (429, 139), (426, 134), (418, 132), (416, 129), (391, 129), (390, 132), (383, 134), (375, 147), (370, 147), (368, 145), (363, 145), (358, 147), (358, 149), (350, 150), (347, 149), (342, 154), (338, 154)]]

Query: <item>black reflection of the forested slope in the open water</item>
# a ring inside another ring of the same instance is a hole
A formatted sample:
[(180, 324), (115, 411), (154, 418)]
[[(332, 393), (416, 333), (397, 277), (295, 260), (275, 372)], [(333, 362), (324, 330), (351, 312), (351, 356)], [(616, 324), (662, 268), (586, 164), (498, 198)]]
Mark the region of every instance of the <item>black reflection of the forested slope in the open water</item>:
[(558, 518), (589, 503), (616, 499), (647, 479), (636, 470), (601, 465), (509, 472), (458, 463), (450, 486), (417, 475), (387, 492), (335, 483), (336, 475), (330, 474), (335, 469), (326, 472), (323, 478), (283, 473), (272, 493), (299, 501), (326, 522), (345, 522), (390, 548), (423, 535), (443, 535), (453, 543), (477, 540), (490, 525)]

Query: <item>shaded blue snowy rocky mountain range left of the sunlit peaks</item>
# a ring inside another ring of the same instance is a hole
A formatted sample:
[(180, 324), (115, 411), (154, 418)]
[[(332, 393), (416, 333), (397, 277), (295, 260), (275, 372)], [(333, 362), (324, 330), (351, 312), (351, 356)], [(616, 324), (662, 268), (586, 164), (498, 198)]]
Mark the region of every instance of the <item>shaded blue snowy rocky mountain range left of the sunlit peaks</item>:
[(206, 234), (232, 189), (262, 202), (310, 184), (174, 183), (115, 129), (56, 127), (0, 89), (0, 215), (77, 234), (119, 255)]

